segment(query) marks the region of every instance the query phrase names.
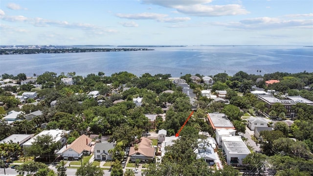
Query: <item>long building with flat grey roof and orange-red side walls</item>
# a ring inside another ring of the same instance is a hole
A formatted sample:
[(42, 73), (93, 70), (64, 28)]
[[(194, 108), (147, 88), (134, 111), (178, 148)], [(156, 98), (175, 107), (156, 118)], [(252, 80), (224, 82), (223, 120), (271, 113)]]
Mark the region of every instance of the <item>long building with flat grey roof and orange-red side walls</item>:
[(207, 118), (212, 126), (215, 129), (235, 129), (233, 124), (228, 120), (227, 116), (224, 113), (208, 113)]

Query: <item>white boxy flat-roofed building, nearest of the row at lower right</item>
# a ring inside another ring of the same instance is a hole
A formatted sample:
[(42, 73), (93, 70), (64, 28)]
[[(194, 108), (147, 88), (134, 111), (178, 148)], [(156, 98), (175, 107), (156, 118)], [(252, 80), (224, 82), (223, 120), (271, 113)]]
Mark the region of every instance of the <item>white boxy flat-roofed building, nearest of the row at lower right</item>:
[(241, 136), (222, 137), (222, 149), (228, 165), (241, 166), (243, 159), (250, 154)]

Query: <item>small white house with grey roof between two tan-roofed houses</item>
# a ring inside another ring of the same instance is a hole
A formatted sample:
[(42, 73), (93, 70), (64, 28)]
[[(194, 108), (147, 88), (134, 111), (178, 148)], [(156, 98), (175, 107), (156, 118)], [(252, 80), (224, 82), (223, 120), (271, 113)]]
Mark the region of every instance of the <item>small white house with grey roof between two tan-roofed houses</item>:
[(115, 144), (110, 142), (97, 142), (94, 145), (93, 153), (95, 160), (112, 160), (112, 154), (109, 153), (111, 149), (114, 149)]

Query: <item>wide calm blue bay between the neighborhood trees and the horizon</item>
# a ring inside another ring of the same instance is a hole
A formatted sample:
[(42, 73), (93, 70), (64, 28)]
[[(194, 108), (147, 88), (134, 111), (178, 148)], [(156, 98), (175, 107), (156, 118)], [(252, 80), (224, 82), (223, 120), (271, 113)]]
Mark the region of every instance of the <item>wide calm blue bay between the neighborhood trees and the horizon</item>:
[(45, 71), (76, 72), (86, 76), (99, 71), (111, 75), (128, 71), (140, 76), (169, 73), (215, 75), (238, 71), (251, 74), (313, 72), (313, 47), (303, 46), (186, 46), (153, 47), (152, 51), (86, 52), (63, 54), (0, 55), (0, 74), (27, 76)]

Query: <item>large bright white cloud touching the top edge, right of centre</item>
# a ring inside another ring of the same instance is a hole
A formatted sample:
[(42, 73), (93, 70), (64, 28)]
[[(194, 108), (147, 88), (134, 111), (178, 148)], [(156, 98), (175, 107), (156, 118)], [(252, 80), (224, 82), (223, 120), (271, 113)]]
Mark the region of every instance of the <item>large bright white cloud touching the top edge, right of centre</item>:
[(178, 12), (201, 17), (245, 15), (249, 12), (240, 4), (209, 5), (212, 0), (142, 0), (143, 3), (175, 8)]

